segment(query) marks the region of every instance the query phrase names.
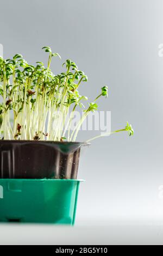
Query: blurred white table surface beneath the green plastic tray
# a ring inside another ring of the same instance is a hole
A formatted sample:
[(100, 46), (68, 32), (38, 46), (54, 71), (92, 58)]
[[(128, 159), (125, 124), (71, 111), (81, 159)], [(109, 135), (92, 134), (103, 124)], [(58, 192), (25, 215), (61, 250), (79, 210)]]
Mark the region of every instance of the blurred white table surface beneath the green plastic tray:
[(163, 223), (80, 222), (74, 227), (0, 224), (0, 245), (163, 245)]

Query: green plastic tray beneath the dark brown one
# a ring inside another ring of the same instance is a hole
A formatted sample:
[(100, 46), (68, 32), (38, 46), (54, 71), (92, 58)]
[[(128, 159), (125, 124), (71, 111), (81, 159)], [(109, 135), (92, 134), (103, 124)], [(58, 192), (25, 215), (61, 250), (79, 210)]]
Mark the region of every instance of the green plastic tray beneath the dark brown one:
[(0, 179), (0, 221), (73, 225), (80, 181)]

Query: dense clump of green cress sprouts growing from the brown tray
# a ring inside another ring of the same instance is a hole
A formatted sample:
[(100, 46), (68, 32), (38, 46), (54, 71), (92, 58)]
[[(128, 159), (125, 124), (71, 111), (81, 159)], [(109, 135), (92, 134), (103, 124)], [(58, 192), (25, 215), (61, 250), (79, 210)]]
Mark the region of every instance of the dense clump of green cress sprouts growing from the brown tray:
[[(66, 67), (66, 71), (54, 75), (50, 69), (52, 58), (60, 56), (48, 46), (42, 49), (49, 53), (47, 68), (42, 62), (36, 62), (35, 66), (28, 64), (21, 54), (16, 54), (12, 59), (0, 57), (1, 139), (64, 141), (67, 133), (67, 141), (76, 141), (87, 115), (97, 111), (96, 101), (101, 96), (108, 96), (108, 87), (102, 87), (101, 93), (84, 109), (82, 101), (87, 101), (87, 97), (81, 96), (78, 88), (82, 82), (87, 81), (87, 76), (70, 59), (62, 65)], [(83, 115), (71, 131), (77, 107), (82, 108)], [(128, 131), (129, 136), (134, 133), (128, 123), (124, 129), (111, 133), (120, 131)], [(108, 134), (92, 139), (105, 135)]]

